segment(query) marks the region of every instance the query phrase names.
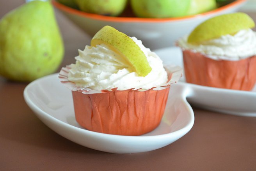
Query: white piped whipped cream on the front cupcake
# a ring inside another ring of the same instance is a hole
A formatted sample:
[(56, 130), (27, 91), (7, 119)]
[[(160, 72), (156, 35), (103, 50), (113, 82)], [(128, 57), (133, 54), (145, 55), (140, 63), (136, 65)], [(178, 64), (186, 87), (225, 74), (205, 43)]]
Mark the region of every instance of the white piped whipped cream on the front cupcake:
[(76, 63), (71, 64), (68, 80), (77, 87), (89, 87), (94, 90), (105, 90), (118, 87), (125, 89), (151, 89), (167, 82), (167, 72), (162, 60), (150, 49), (144, 47), (135, 37), (132, 40), (139, 45), (146, 55), (151, 66), (151, 72), (146, 77), (140, 77), (133, 72), (132, 66), (118, 53), (112, 51), (107, 45), (96, 47), (85, 46), (84, 51), (78, 50)]

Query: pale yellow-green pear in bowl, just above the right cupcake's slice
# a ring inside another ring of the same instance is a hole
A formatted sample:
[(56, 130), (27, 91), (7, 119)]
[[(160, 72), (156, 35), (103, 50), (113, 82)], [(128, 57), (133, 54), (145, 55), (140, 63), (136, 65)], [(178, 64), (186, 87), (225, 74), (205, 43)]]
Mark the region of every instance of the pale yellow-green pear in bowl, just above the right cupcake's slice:
[(216, 8), (216, 0), (191, 0), (188, 15), (201, 14)]

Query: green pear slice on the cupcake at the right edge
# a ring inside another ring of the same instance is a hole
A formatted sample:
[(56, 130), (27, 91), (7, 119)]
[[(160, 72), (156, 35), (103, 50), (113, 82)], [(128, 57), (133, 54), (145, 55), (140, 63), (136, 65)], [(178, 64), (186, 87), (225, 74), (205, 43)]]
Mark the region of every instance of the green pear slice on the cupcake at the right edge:
[(188, 43), (200, 44), (200, 42), (219, 38), (222, 35), (234, 35), (240, 30), (254, 26), (252, 18), (242, 12), (220, 15), (199, 24), (188, 36)]

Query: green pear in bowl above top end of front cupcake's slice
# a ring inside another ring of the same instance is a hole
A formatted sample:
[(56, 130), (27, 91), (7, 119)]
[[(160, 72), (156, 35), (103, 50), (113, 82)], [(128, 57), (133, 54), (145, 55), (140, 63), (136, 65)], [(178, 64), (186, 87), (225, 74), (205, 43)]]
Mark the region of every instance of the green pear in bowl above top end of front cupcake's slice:
[(75, 0), (79, 9), (104, 16), (118, 16), (126, 7), (127, 0)]

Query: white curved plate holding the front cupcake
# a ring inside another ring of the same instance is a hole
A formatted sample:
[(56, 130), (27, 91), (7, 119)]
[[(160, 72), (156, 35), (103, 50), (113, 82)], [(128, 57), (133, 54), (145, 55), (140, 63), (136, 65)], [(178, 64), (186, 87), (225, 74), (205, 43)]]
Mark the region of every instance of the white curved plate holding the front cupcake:
[(141, 136), (119, 136), (88, 131), (75, 120), (71, 91), (58, 74), (31, 82), (24, 98), (37, 117), (53, 131), (75, 143), (103, 152), (127, 154), (162, 148), (184, 136), (194, 124), (194, 112), (183, 85), (172, 84), (160, 125)]

